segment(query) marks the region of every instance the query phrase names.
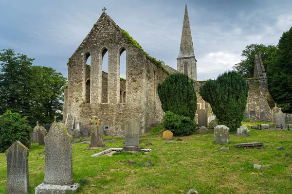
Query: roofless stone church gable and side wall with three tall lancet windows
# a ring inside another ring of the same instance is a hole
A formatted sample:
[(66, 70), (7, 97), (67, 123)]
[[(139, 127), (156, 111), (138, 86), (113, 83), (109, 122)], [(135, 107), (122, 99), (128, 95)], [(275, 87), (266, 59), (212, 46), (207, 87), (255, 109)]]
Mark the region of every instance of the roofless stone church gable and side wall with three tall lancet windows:
[[(120, 57), (126, 55), (126, 79), (120, 78)], [(103, 71), (105, 61), (108, 69)], [(69, 129), (91, 116), (109, 126), (108, 135), (123, 136), (124, 124), (138, 120), (141, 134), (162, 123), (164, 112), (155, 86), (167, 71), (129, 43), (122, 29), (103, 13), (68, 62), (64, 118)], [(107, 72), (106, 72), (107, 71)]]

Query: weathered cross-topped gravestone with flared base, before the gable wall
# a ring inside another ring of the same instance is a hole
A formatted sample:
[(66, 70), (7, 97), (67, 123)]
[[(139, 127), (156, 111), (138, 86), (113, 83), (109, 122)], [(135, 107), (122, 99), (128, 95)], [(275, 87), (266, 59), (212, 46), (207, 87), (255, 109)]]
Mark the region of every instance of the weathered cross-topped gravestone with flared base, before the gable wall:
[(97, 129), (100, 121), (96, 121), (96, 117), (92, 116), (90, 123), (92, 124), (93, 130), (91, 133), (90, 144), (86, 149), (100, 149), (106, 147), (106, 144), (103, 142), (101, 135)]

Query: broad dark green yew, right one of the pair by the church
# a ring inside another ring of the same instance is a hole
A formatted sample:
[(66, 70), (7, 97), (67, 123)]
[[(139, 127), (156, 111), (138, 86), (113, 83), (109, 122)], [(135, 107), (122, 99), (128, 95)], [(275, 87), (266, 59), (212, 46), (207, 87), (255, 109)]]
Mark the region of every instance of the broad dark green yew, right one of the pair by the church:
[(248, 95), (248, 84), (236, 71), (227, 71), (216, 80), (208, 80), (199, 93), (208, 102), (219, 124), (236, 131), (243, 119)]

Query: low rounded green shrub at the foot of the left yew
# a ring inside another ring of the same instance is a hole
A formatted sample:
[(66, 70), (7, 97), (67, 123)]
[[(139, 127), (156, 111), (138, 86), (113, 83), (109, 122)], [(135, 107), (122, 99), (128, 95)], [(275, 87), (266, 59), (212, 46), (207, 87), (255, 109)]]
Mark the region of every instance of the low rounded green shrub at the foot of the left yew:
[(190, 135), (196, 128), (196, 122), (189, 117), (174, 114), (167, 111), (163, 117), (163, 124), (165, 130), (169, 130), (175, 136)]

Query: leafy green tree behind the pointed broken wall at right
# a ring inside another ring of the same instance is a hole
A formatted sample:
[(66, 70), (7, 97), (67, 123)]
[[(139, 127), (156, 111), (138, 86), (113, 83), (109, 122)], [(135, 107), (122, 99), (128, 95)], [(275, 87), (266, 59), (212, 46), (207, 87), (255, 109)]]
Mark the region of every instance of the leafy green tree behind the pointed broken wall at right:
[(260, 53), (265, 69), (272, 63), (274, 54), (277, 51), (277, 47), (274, 45), (265, 46), (264, 44), (251, 44), (245, 47), (241, 56), (245, 59), (241, 59), (241, 62), (235, 64), (232, 68), (235, 69), (240, 75), (246, 78), (254, 76), (255, 67), (255, 54)]

